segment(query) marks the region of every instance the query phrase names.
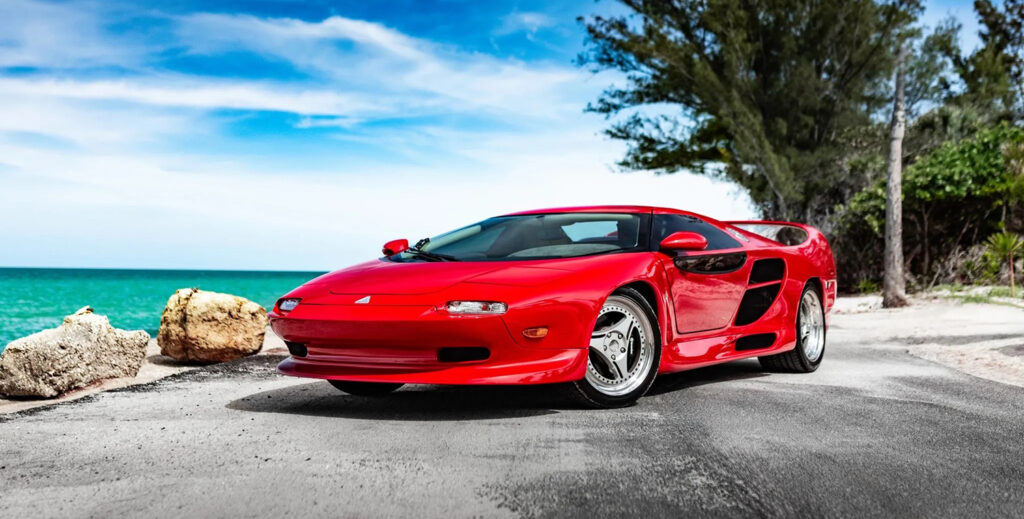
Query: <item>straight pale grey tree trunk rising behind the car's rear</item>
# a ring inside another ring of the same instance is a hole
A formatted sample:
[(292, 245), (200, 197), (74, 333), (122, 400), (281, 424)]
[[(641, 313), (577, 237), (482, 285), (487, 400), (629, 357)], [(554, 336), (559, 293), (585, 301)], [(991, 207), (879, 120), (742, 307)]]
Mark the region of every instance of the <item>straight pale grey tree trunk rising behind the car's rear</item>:
[(882, 306), (906, 306), (903, 277), (903, 134), (906, 132), (905, 78), (906, 47), (900, 45), (896, 57), (896, 93), (893, 120), (889, 126), (889, 178), (886, 183), (886, 251)]

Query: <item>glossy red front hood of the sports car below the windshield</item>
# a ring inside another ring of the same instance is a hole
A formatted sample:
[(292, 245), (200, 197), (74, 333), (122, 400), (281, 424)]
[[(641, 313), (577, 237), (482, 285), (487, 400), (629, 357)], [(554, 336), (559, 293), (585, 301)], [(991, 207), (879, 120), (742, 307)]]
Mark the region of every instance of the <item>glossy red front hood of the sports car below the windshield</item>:
[[(408, 262), (376, 260), (322, 275), (311, 284), (338, 295), (417, 295), (460, 283), (534, 286), (571, 273), (534, 262)], [(550, 263), (550, 262), (548, 262)]]

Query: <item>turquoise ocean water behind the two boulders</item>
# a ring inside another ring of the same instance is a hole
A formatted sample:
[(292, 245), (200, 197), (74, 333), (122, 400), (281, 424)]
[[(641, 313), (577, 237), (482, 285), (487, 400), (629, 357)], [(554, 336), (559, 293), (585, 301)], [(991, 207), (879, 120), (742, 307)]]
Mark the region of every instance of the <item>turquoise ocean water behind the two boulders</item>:
[(286, 292), (323, 272), (0, 268), (0, 351), (8, 342), (54, 328), (83, 306), (124, 330), (156, 337), (167, 299), (198, 287), (269, 309)]

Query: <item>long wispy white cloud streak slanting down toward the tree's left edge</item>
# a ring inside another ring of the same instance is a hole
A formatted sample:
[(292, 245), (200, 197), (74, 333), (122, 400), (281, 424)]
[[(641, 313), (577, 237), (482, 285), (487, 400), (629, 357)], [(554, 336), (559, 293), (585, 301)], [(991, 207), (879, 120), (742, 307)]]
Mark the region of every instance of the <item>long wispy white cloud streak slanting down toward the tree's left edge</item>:
[[(348, 89), (395, 96), (421, 107), (546, 117), (564, 110), (565, 99), (578, 93), (587, 78), (585, 72), (568, 67), (526, 66), (459, 52), (379, 24), (341, 16), (308, 23), (197, 14), (180, 18), (178, 31), (194, 53), (245, 49), (285, 59)], [(341, 48), (339, 41), (354, 48)], [(583, 88), (595, 91), (591, 85)]]

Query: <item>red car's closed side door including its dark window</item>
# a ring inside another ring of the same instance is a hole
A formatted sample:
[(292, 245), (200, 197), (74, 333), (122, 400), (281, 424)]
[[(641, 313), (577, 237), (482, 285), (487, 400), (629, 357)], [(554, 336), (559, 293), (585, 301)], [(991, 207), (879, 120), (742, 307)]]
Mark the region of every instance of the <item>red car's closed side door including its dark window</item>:
[(662, 251), (668, 273), (676, 331), (707, 332), (728, 327), (743, 298), (750, 276), (746, 250), (735, 237), (695, 216), (654, 215), (653, 243), (679, 231), (708, 239), (702, 251)]

